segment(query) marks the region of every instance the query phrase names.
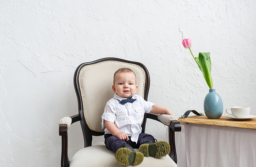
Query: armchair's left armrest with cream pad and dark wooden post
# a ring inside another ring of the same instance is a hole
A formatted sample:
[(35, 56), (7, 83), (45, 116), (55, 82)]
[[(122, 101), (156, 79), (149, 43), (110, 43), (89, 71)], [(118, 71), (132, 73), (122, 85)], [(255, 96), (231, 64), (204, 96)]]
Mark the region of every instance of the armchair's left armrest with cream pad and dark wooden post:
[(61, 136), (61, 167), (69, 167), (67, 154), (67, 130), (74, 122), (80, 121), (81, 117), (77, 114), (71, 117), (64, 117), (59, 121), (59, 136)]

